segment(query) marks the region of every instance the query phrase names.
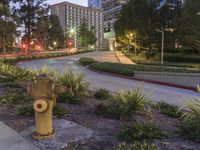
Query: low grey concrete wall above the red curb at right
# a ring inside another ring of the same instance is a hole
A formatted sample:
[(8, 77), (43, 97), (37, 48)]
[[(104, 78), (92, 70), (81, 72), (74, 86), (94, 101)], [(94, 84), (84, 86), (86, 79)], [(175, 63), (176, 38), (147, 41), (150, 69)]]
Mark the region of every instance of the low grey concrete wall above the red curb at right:
[(134, 77), (193, 88), (196, 88), (197, 84), (200, 84), (200, 73), (164, 73), (134, 71)]

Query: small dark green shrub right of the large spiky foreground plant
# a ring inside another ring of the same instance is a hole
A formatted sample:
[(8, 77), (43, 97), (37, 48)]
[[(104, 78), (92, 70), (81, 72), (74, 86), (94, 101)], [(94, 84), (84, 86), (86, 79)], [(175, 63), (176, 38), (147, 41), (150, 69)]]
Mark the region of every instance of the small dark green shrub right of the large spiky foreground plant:
[(170, 105), (163, 101), (158, 102), (158, 107), (162, 114), (165, 114), (170, 117), (180, 118), (183, 115), (183, 112), (178, 106)]

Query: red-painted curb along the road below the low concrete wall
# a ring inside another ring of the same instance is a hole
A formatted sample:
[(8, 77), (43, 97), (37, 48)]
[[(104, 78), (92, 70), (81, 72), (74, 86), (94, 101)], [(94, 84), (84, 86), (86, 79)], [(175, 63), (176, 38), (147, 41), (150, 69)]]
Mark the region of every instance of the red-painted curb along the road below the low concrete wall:
[(196, 92), (196, 88), (194, 88), (194, 87), (188, 87), (188, 86), (182, 86), (182, 85), (177, 85), (177, 84), (172, 84), (172, 83), (129, 77), (129, 76), (118, 75), (118, 74), (114, 74), (114, 73), (107, 73), (107, 72), (99, 71), (99, 70), (96, 70), (96, 69), (93, 69), (93, 68), (90, 68), (90, 67), (88, 67), (88, 70), (94, 71), (94, 72), (97, 72), (97, 73), (101, 73), (101, 74), (105, 74), (105, 75), (109, 75), (109, 76), (112, 76), (112, 77), (119, 77), (119, 78), (136, 80), (136, 81), (144, 81), (144, 82), (148, 82), (148, 83), (159, 84), (159, 85), (164, 85), (164, 86), (169, 86), (169, 87), (174, 87), (174, 88), (180, 88), (180, 89), (185, 89), (185, 90), (191, 90), (191, 91)]

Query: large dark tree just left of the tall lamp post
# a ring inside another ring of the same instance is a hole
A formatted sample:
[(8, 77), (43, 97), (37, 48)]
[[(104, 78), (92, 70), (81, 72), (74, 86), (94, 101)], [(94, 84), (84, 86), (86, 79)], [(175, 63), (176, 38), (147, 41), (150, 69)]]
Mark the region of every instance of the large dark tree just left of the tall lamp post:
[[(118, 42), (126, 37), (127, 31), (136, 33), (137, 47), (149, 49), (155, 46), (156, 40), (156, 3), (147, 0), (131, 0), (121, 11), (115, 23), (115, 32)], [(135, 43), (136, 44), (136, 43)]]

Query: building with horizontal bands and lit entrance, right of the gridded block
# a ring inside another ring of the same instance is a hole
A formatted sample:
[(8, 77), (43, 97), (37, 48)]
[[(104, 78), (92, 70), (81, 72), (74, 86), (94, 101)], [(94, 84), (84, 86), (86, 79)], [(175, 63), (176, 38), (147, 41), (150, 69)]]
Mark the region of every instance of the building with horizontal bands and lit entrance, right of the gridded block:
[(109, 50), (114, 51), (116, 48), (114, 24), (121, 12), (122, 5), (127, 4), (128, 0), (102, 0), (103, 16), (104, 16), (104, 38)]

